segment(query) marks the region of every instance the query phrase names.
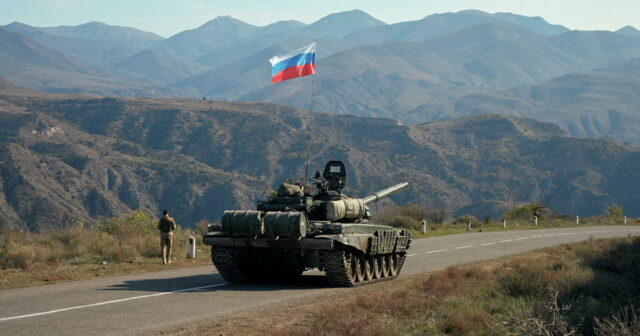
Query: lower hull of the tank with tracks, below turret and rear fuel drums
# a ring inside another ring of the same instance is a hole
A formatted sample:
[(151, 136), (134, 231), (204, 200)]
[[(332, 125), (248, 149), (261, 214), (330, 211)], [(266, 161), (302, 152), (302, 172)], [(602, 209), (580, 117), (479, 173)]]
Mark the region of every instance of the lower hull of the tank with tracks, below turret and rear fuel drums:
[[(313, 224), (313, 223), (312, 223)], [(315, 223), (299, 239), (231, 237), (209, 232), (214, 265), (232, 283), (287, 281), (306, 269), (324, 271), (333, 286), (359, 286), (398, 276), (411, 239), (406, 230), (373, 224)]]

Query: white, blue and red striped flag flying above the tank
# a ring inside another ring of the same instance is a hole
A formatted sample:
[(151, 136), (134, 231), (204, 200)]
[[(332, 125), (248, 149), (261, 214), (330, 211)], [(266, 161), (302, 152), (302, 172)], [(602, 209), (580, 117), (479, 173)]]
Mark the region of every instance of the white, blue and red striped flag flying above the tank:
[(274, 56), (271, 63), (271, 83), (316, 73), (316, 43), (313, 42), (292, 53)]

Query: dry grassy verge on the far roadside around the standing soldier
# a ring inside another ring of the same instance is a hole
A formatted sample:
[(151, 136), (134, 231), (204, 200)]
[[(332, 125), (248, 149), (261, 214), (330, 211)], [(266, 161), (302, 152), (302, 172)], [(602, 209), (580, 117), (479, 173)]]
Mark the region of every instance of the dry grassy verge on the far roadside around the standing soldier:
[(174, 263), (160, 265), (156, 219), (142, 211), (110, 218), (93, 227), (77, 225), (44, 233), (0, 234), (0, 289), (208, 264), (198, 246), (195, 260), (186, 256), (187, 238), (174, 237)]

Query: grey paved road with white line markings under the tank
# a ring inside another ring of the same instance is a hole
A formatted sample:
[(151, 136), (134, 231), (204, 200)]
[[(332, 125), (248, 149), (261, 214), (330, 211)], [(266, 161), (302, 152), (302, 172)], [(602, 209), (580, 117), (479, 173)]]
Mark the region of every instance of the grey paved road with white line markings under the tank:
[[(589, 237), (640, 233), (640, 226), (485, 232), (416, 239), (402, 275)], [(288, 286), (226, 284), (211, 266), (0, 291), (0, 335), (123, 335), (178, 326), (213, 314), (290, 298), (349, 290), (328, 288), (321, 273)]]

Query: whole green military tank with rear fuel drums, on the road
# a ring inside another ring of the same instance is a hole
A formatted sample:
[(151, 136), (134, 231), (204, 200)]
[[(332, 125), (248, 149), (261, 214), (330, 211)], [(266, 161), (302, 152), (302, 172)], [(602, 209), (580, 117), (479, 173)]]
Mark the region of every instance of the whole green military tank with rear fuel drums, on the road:
[(311, 179), (315, 192), (283, 183), (256, 210), (225, 211), (203, 237), (220, 275), (231, 283), (287, 281), (318, 268), (340, 287), (396, 278), (410, 233), (371, 223), (367, 205), (408, 183), (360, 199), (342, 193), (346, 179), (344, 164), (330, 161)]

